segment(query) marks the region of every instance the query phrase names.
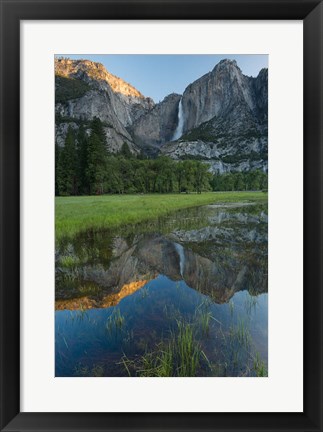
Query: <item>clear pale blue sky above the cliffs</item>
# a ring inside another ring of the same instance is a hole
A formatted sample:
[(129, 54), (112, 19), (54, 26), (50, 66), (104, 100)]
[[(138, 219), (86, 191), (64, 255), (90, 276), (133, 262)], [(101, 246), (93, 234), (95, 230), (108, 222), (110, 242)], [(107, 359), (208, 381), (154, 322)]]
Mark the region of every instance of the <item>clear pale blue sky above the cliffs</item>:
[(64, 54), (71, 59), (88, 59), (104, 64), (109, 72), (132, 84), (155, 102), (170, 93), (182, 94), (188, 84), (210, 72), (222, 59), (236, 60), (245, 75), (257, 76), (268, 67), (268, 55), (91, 55)]

